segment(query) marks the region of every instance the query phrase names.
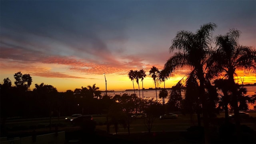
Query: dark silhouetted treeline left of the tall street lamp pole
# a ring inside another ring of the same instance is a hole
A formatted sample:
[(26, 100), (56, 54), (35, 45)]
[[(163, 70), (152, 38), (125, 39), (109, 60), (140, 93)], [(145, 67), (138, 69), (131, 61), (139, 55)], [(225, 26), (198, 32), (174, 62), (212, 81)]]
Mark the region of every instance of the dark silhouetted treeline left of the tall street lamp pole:
[(104, 99), (95, 84), (74, 91), (58, 92), (52, 85), (32, 83), (30, 74), (14, 74), (15, 86), (9, 78), (0, 84), (1, 118), (68, 116), (74, 113), (104, 113)]

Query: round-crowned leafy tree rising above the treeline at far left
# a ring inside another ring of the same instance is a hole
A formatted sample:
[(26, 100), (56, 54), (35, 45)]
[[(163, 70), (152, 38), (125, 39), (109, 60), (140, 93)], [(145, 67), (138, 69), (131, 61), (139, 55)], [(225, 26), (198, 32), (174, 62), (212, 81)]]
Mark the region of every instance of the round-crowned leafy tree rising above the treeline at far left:
[(32, 78), (30, 74), (22, 74), (21, 72), (17, 72), (16, 74), (14, 74), (14, 79), (15, 86), (22, 91), (28, 90), (28, 88), (32, 84)]

